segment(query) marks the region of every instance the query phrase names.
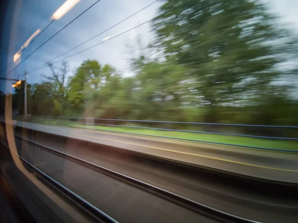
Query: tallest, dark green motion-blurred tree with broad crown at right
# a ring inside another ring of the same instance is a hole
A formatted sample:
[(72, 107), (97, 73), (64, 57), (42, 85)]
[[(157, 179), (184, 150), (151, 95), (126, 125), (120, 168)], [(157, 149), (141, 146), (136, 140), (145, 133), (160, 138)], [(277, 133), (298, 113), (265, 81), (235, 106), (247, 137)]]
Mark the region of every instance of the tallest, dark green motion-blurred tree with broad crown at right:
[(195, 80), (201, 104), (211, 108), (206, 121), (218, 121), (218, 106), (248, 105), (271, 87), (286, 91), (289, 81), (273, 81), (281, 77), (278, 65), (297, 57), (297, 45), (259, 1), (167, 0), (166, 11), (153, 24), (155, 46)]

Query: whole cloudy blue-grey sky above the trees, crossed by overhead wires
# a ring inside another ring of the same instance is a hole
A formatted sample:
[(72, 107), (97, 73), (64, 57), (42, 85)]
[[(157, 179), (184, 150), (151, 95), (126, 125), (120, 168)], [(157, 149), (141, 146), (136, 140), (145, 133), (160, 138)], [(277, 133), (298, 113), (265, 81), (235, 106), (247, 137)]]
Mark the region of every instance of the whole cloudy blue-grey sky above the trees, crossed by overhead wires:
[[(18, 14), (18, 24), (16, 29), (15, 52), (24, 42), (38, 29), (45, 28), (50, 22), (52, 14), (64, 3), (65, 0), (22, 0)], [(38, 46), (44, 43), (49, 37), (59, 31), (62, 27), (73, 20), (82, 11), (92, 5), (96, 0), (80, 0), (65, 16), (55, 20), (29, 47), (22, 53), (22, 60), (33, 52)], [(28, 82), (39, 82), (42, 75), (49, 75), (49, 68), (31, 72), (36, 67), (47, 61), (65, 53), (74, 46), (81, 44), (89, 38), (101, 33), (105, 29), (113, 26), (155, 0), (100, 0), (88, 11), (77, 18), (63, 31), (49, 40), (44, 46), (38, 49), (26, 61), (20, 64), (12, 73), (15, 78), (17, 75), (27, 71)], [(298, 33), (298, 0), (263, 0), (269, 10), (281, 17), (280, 22)], [(132, 27), (135, 27), (156, 16), (162, 0), (159, 0), (136, 14), (125, 22), (119, 24), (106, 33), (94, 38), (88, 43), (80, 46), (74, 51), (58, 58), (57, 60), (68, 57), (80, 50), (86, 49), (94, 44), (102, 42), (108, 36), (117, 35)], [(117, 69), (123, 76), (130, 76), (133, 73), (128, 68), (127, 60), (130, 57), (128, 45), (134, 45), (138, 35), (144, 41), (151, 36), (150, 25), (146, 24), (136, 28), (124, 35), (104, 42), (90, 50), (80, 53), (67, 61), (71, 66), (70, 74), (73, 74), (84, 60), (97, 60), (101, 64), (110, 64)], [(12, 60), (9, 59), (9, 60)], [(55, 64), (59, 67), (60, 63)], [(11, 70), (9, 68), (8, 70)]]

